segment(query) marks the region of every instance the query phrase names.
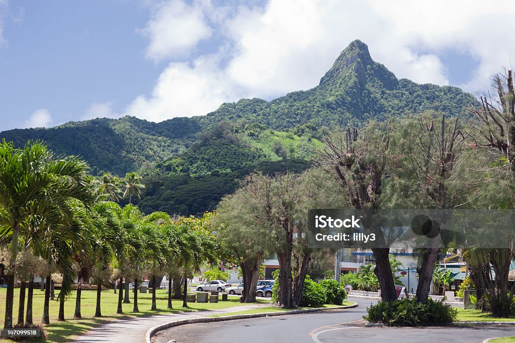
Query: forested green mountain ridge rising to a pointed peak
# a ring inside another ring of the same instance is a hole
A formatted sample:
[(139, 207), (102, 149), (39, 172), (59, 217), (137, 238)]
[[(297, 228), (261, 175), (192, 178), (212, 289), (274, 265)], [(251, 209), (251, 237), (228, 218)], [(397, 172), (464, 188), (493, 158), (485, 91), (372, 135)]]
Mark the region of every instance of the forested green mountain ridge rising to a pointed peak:
[[(44, 140), (57, 154), (87, 160), (94, 174), (196, 175), (280, 157), (306, 158), (317, 145), (310, 138), (317, 138), (317, 130), (323, 127), (335, 129), (349, 121), (383, 120), (428, 110), (465, 114), (464, 108), (472, 105), (477, 105), (476, 99), (459, 88), (398, 80), (371, 59), (363, 42), (354, 41), (318, 86), (272, 101), (241, 99), (205, 116), (159, 123), (126, 116), (69, 122), (50, 129), (16, 129), (1, 132), (0, 139), (13, 141), (15, 147), (23, 147), (29, 139)], [(239, 125), (239, 132), (233, 132), (239, 141), (206, 140), (205, 135), (225, 120)], [(194, 142), (200, 146), (192, 146)], [(155, 165), (157, 170), (153, 170)]]

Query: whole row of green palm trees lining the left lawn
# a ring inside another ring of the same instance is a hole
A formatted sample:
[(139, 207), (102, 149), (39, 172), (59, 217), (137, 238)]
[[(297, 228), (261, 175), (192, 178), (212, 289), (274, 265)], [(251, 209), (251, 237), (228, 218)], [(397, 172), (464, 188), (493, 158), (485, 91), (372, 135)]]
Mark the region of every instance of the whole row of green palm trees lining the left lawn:
[[(88, 165), (74, 156), (55, 156), (40, 141), (24, 149), (0, 143), (0, 272), (7, 275), (5, 328), (13, 327), (14, 280), (21, 281), (17, 323), (32, 324), (32, 291), (35, 275), (45, 278), (42, 323), (49, 323), (50, 283), (58, 273), (59, 316), (64, 320), (64, 302), (78, 280), (75, 317), (80, 317), (82, 284), (97, 285), (95, 316), (101, 316), (102, 285), (126, 280), (118, 293), (117, 313), (129, 302), (128, 280), (136, 289), (143, 275), (153, 285), (158, 276), (197, 272), (205, 261), (216, 260), (218, 246), (202, 219), (172, 219), (164, 212), (142, 213), (131, 204), (143, 189), (140, 177), (126, 175), (122, 186), (115, 177), (94, 178)], [(123, 195), (122, 195), (123, 194)], [(120, 207), (110, 200), (129, 197)], [(186, 283), (185, 283), (186, 285)], [(26, 316), (25, 293), (28, 286)], [(185, 303), (184, 287), (184, 303)], [(125, 293), (125, 299), (123, 299)], [(168, 294), (171, 308), (171, 292)], [(138, 292), (134, 292), (134, 312)], [(156, 310), (156, 292), (152, 308)]]

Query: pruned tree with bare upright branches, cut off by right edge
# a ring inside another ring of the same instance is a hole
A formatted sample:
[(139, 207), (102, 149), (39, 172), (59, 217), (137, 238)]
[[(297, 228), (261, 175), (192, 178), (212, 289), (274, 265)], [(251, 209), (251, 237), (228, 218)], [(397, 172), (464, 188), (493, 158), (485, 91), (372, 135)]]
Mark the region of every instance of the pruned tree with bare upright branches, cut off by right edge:
[[(512, 71), (507, 75), (493, 77), (495, 95), (480, 97), (481, 105), (472, 108), (475, 121), (471, 130), (472, 148), (485, 151), (487, 160), (482, 172), (485, 179), (495, 183), (495, 200), (488, 206), (492, 208), (515, 207), (515, 94), (513, 92)], [(508, 248), (493, 247), (470, 251), (466, 261), (474, 266), (472, 280), (476, 290), (488, 297), (489, 307), (495, 316), (512, 313), (514, 287), (509, 286), (508, 273), (511, 260), (515, 256), (515, 238), (505, 237)], [(480, 267), (488, 261), (495, 272)], [(472, 270), (472, 269), (471, 269)], [(483, 306), (483, 310), (485, 307)]]

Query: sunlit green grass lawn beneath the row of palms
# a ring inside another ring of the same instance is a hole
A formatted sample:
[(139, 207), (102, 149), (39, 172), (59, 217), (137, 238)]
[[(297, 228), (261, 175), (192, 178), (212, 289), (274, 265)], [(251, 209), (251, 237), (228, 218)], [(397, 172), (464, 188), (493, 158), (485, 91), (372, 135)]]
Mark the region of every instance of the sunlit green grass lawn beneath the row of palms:
[[(58, 294), (56, 290), (56, 296)], [(14, 289), (14, 311), (13, 311), (13, 322), (18, 319), (18, 303), (19, 303), (20, 288)], [(138, 307), (140, 313), (132, 313), (133, 307), (133, 293), (131, 290), (129, 304), (123, 304), (124, 314), (116, 314), (118, 304), (118, 294), (114, 294), (113, 290), (102, 292), (102, 318), (95, 318), (96, 309), (96, 291), (82, 291), (81, 296), (81, 319), (74, 319), (73, 314), (75, 312), (75, 292), (73, 292), (64, 303), (64, 316), (65, 322), (58, 322), (57, 315), (59, 312), (59, 302), (57, 300), (50, 301), (50, 324), (45, 327), (48, 334), (48, 341), (50, 342), (68, 342), (71, 341), (75, 336), (83, 334), (91, 328), (97, 327), (101, 324), (107, 323), (113, 320), (127, 319), (141, 316), (151, 316), (156, 314), (168, 314), (186, 311), (205, 311), (224, 309), (232, 306), (245, 305), (239, 302), (239, 296), (229, 296), (229, 301), (220, 301), (218, 303), (188, 303), (188, 308), (182, 307), (182, 300), (173, 300), (173, 310), (167, 310), (166, 305), (168, 303), (168, 295), (166, 290), (157, 290), (156, 301), (158, 311), (150, 311), (152, 303), (152, 294), (150, 293), (138, 293)], [(41, 322), (43, 315), (43, 302), (44, 292), (39, 289), (34, 290), (33, 306), (32, 306), (32, 318), (35, 324)], [(4, 315), (5, 315), (5, 297), (6, 288), (0, 288), (0, 328), (4, 328)], [(56, 298), (57, 299), (57, 298)], [(25, 300), (26, 301), (26, 300)], [(265, 301), (262, 301), (265, 302)], [(0, 340), (2, 340), (0, 338)]]

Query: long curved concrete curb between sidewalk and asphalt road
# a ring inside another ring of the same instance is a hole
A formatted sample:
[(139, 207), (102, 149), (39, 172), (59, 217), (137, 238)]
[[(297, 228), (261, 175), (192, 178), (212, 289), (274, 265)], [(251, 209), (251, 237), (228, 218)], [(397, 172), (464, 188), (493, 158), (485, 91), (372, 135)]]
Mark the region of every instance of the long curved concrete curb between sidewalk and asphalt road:
[(146, 343), (151, 343), (151, 337), (158, 331), (166, 330), (169, 328), (175, 328), (181, 325), (186, 324), (197, 324), (197, 323), (211, 323), (217, 321), (226, 321), (226, 320), (237, 320), (237, 319), (248, 319), (248, 318), (259, 318), (259, 317), (274, 317), (274, 316), (284, 316), (287, 314), (300, 314), (300, 313), (309, 313), (309, 312), (318, 312), (325, 310), (336, 310), (336, 309), (354, 309), (357, 308), (357, 303), (354, 305), (347, 306), (337, 306), (334, 308), (319, 308), (319, 309), (304, 309), (304, 310), (292, 310), (292, 311), (282, 311), (282, 312), (263, 312), (263, 313), (251, 313), (251, 314), (239, 314), (231, 316), (228, 313), (228, 316), (225, 317), (201, 317), (201, 318), (191, 318), (191, 319), (179, 319), (170, 321), (164, 324), (156, 325), (147, 330), (145, 334)]

